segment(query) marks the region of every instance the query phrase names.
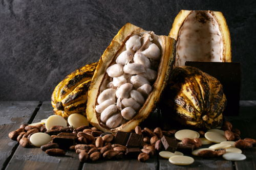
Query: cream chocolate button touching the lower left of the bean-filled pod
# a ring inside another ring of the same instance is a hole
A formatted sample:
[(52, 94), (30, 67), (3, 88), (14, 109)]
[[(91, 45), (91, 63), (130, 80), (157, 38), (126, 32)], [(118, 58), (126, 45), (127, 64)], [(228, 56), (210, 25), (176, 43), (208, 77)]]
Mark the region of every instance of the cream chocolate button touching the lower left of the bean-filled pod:
[(74, 127), (74, 129), (84, 125), (89, 126), (87, 118), (77, 113), (71, 114), (68, 118), (68, 122), (70, 126)]

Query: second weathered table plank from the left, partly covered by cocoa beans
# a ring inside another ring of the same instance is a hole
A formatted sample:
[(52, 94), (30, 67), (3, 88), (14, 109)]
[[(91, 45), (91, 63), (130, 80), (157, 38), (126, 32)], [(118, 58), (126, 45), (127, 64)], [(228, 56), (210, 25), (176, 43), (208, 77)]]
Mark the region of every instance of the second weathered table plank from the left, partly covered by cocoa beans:
[[(53, 115), (51, 102), (44, 102), (36, 114), (33, 123)], [(18, 146), (6, 169), (78, 169), (80, 161), (75, 152), (67, 151), (65, 156), (49, 156), (40, 148)], [(82, 165), (82, 164), (81, 164)], [(80, 165), (80, 166), (81, 166)]]

